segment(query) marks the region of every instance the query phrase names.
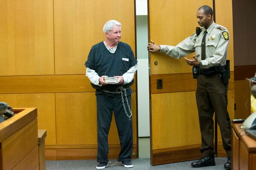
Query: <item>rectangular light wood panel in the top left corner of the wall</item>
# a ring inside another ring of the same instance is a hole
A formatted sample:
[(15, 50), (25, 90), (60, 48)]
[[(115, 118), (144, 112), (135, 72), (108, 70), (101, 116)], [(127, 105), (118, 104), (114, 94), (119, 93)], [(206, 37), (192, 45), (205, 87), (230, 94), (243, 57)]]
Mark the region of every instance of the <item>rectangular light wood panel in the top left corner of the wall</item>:
[(0, 76), (54, 74), (52, 0), (0, 0)]

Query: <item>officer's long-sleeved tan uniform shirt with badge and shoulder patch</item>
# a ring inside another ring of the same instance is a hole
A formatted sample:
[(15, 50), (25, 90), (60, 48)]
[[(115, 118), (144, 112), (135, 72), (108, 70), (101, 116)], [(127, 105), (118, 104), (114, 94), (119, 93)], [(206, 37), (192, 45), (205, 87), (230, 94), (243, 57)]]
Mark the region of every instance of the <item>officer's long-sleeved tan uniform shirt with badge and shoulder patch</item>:
[[(201, 47), (202, 39), (204, 36), (205, 28), (201, 28), (201, 33), (197, 36), (193, 34), (187, 37), (176, 46), (160, 45), (160, 52), (179, 59), (195, 51), (198, 60), (201, 60)], [(227, 28), (215, 24), (212, 24), (207, 28), (206, 35), (206, 59), (201, 60), (202, 68), (209, 68), (212, 66), (225, 65), (227, 59), (227, 48), (229, 44), (229, 33)]]

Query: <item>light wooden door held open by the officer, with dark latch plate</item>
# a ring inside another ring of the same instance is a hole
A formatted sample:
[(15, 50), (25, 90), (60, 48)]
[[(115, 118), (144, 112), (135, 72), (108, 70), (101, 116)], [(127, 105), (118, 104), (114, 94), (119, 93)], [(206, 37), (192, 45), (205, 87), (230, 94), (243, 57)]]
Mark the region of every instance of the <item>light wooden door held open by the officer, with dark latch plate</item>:
[[(196, 12), (203, 5), (212, 7), (213, 1), (148, 0), (149, 40), (157, 45), (177, 45), (195, 32)], [(186, 57), (191, 59), (193, 54)], [(192, 67), (184, 58), (174, 59), (163, 53), (149, 56), (151, 164), (198, 159), (201, 133)], [(232, 98), (233, 91), (228, 95)]]

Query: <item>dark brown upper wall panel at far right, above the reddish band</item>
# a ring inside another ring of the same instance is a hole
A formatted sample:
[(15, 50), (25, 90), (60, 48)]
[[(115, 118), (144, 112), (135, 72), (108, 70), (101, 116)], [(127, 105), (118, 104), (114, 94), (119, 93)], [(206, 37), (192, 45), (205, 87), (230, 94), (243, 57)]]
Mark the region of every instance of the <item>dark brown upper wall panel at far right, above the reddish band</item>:
[[(255, 0), (233, 0), (234, 65), (256, 65)], [(250, 20), (244, 19), (250, 18)], [(255, 74), (255, 70), (254, 70)]]

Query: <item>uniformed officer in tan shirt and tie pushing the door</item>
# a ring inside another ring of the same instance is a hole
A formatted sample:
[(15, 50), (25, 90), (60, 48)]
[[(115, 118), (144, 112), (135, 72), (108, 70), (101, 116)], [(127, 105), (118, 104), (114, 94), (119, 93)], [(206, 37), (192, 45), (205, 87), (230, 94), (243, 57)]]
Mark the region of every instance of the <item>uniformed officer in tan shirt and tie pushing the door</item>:
[(229, 33), (227, 28), (217, 25), (212, 20), (212, 8), (201, 6), (197, 11), (201, 32), (195, 33), (176, 46), (148, 44), (148, 51), (163, 52), (179, 59), (195, 51), (193, 59), (186, 59), (188, 65), (196, 66), (197, 77), (196, 101), (201, 130), (201, 153), (192, 167), (214, 166), (213, 147), (213, 113), (215, 112), (221, 130), (223, 147), (227, 152), (227, 163), (224, 168), (231, 167), (230, 118), (227, 112), (228, 78), (227, 48)]

